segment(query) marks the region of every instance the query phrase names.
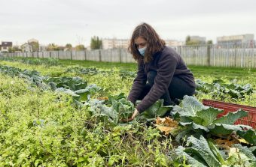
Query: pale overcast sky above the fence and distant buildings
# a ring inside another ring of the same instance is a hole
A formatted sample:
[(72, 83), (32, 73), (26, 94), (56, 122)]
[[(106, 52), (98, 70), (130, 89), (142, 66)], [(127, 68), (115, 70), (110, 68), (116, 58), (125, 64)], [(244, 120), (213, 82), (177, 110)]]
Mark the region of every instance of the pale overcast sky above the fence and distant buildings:
[(87, 46), (93, 35), (130, 38), (141, 22), (170, 40), (256, 35), (256, 1), (0, 0), (0, 41), (14, 44), (35, 38), (44, 45)]

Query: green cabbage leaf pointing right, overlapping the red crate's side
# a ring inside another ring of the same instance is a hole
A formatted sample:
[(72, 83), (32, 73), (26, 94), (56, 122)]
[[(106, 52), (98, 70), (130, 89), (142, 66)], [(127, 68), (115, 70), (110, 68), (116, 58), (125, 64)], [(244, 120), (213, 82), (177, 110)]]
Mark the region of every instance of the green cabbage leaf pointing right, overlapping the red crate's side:
[(248, 112), (239, 110), (237, 112), (229, 112), (221, 118), (216, 119), (213, 123), (217, 124), (234, 124), (239, 118), (248, 116)]

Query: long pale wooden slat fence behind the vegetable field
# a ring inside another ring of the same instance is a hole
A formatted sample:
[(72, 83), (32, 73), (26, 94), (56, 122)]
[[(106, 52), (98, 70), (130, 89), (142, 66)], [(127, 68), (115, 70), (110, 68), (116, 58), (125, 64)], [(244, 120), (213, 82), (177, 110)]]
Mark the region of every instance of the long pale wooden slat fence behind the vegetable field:
[[(187, 65), (256, 67), (256, 48), (247, 46), (178, 46), (174, 48)], [(8, 57), (59, 58), (69, 60), (134, 63), (127, 49), (4, 53)]]

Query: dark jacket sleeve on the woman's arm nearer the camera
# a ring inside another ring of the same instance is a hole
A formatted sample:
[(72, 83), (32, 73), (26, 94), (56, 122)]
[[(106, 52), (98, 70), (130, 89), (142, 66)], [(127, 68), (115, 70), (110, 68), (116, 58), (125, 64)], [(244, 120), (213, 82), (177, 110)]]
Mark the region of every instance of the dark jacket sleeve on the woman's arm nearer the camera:
[(141, 103), (136, 106), (136, 109), (138, 109), (139, 112), (144, 112), (148, 107), (160, 99), (166, 91), (168, 91), (169, 84), (172, 81), (172, 77), (178, 64), (178, 56), (174, 54), (174, 52), (169, 52), (160, 56), (157, 63), (158, 70), (157, 76), (154, 79), (154, 85)]

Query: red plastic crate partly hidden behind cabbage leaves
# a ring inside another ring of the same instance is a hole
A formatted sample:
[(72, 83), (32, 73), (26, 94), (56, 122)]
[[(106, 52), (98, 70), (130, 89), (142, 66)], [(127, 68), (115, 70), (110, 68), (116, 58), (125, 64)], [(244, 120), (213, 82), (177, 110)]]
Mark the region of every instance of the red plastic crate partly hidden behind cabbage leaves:
[(248, 112), (248, 117), (239, 118), (235, 124), (244, 124), (256, 128), (256, 107), (252, 106), (243, 106), (239, 104), (234, 103), (224, 103), (221, 101), (215, 101), (215, 100), (203, 100), (203, 105), (205, 106), (212, 106), (218, 109), (223, 109), (224, 112), (218, 115), (218, 118), (220, 118), (223, 115), (227, 115), (228, 112), (236, 112), (239, 109), (245, 110)]

